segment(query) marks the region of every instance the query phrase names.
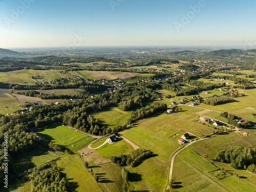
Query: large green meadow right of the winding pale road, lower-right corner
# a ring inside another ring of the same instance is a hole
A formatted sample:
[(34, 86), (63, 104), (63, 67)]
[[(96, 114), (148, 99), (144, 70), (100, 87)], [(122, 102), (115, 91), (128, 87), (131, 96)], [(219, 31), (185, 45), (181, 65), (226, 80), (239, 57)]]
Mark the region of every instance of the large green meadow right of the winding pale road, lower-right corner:
[[(175, 157), (173, 179), (177, 182), (177, 187), (174, 187), (172, 191), (216, 191), (217, 189), (217, 191), (255, 191), (255, 174), (246, 170), (233, 169), (229, 164), (214, 161), (219, 150), (236, 145), (252, 146), (246, 137), (243, 138), (236, 133), (227, 133), (198, 141), (185, 148)], [(208, 160), (202, 157), (203, 154), (209, 156)], [(237, 173), (240, 177), (230, 176), (218, 180), (207, 173), (218, 168)]]

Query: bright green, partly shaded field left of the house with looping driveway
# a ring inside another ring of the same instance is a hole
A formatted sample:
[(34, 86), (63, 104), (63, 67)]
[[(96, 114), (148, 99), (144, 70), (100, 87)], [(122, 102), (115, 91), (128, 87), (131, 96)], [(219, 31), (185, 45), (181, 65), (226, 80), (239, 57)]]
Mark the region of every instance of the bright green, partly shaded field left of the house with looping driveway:
[(79, 146), (79, 144), (86, 144), (93, 140), (93, 138), (87, 135), (57, 123), (51, 124), (45, 128), (36, 129), (35, 132), (54, 144), (67, 145), (70, 149)]

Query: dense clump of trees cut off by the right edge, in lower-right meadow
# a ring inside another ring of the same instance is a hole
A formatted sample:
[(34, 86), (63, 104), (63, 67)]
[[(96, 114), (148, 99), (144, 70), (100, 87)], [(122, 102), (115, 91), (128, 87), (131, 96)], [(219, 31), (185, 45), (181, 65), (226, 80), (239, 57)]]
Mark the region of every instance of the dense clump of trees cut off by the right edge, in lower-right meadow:
[[(249, 169), (249, 171), (256, 173), (256, 148), (234, 146), (218, 152), (216, 160), (231, 163), (230, 166), (236, 169)], [(254, 169), (252, 169), (253, 167)]]

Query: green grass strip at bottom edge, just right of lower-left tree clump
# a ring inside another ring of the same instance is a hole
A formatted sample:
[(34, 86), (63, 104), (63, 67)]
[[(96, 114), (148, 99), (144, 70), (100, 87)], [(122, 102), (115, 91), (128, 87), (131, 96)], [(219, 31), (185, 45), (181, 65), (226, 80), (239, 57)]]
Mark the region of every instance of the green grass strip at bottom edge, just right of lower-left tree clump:
[(102, 191), (76, 154), (63, 155), (56, 163), (61, 172), (66, 174), (69, 191)]

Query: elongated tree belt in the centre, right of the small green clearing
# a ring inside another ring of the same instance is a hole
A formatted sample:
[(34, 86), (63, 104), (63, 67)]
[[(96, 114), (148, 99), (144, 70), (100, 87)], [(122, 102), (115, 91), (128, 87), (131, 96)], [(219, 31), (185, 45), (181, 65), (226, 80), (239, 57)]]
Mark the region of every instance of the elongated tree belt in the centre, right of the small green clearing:
[(145, 117), (152, 116), (156, 113), (166, 111), (167, 105), (166, 103), (154, 103), (152, 105), (147, 105), (144, 108), (137, 109), (135, 112), (131, 112), (130, 118), (127, 120), (128, 124), (131, 124), (134, 121), (137, 121), (139, 119), (143, 119)]

